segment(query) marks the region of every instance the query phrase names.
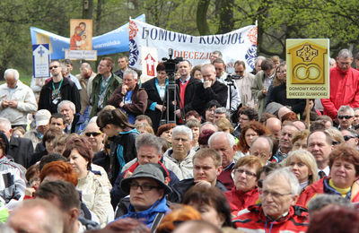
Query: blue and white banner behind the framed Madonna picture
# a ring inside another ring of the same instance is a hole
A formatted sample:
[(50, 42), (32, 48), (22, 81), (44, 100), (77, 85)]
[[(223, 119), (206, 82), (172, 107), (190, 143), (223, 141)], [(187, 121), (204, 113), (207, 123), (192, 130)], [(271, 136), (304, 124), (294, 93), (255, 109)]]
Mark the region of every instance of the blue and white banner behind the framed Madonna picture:
[[(145, 22), (142, 14), (136, 20)], [(47, 30), (35, 27), (30, 28), (31, 44), (49, 44), (51, 59), (64, 59), (65, 49), (70, 48), (70, 39), (58, 36)], [(98, 56), (117, 54), (128, 51), (128, 22), (116, 30), (111, 30), (103, 35), (92, 38), (92, 49), (97, 50)]]

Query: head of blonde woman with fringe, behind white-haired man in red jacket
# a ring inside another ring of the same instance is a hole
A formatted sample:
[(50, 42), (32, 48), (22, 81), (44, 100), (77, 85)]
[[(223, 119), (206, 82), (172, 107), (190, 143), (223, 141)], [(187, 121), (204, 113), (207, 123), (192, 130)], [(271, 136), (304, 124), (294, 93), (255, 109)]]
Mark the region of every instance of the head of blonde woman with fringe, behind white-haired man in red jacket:
[(302, 189), (319, 180), (317, 163), (310, 151), (291, 151), (284, 164), (291, 168)]

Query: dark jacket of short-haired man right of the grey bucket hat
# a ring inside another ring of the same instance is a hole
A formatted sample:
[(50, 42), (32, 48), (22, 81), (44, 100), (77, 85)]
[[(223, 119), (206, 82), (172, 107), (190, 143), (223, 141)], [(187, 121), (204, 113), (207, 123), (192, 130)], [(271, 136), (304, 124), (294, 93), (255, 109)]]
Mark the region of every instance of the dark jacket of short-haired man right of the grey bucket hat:
[[(196, 184), (195, 184), (194, 178), (182, 179), (182, 180), (180, 180), (180, 182), (176, 183), (174, 186), (171, 186), (172, 193), (169, 194), (167, 199), (171, 203), (182, 203), (184, 194), (186, 194), (186, 192), (188, 191), (189, 188), (191, 188), (192, 186), (195, 186), (195, 185)], [(222, 191), (222, 193), (228, 191), (227, 188), (225, 188), (225, 186), (219, 180), (217, 180), (215, 182), (215, 186), (217, 188), (219, 188)]]

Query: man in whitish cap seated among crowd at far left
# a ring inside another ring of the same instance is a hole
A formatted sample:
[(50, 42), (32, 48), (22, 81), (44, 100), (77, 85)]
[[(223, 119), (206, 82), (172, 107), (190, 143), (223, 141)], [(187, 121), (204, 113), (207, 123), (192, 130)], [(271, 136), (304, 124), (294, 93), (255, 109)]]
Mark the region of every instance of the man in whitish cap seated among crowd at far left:
[[(36, 148), (36, 145), (41, 142), (42, 135), (48, 130), (50, 117), (51, 113), (47, 109), (37, 111), (35, 114), (36, 128), (25, 133), (24, 137), (31, 140), (34, 148)], [(41, 145), (39, 144), (39, 147), (36, 148), (35, 151), (41, 151)], [(43, 149), (45, 149), (45, 147)]]

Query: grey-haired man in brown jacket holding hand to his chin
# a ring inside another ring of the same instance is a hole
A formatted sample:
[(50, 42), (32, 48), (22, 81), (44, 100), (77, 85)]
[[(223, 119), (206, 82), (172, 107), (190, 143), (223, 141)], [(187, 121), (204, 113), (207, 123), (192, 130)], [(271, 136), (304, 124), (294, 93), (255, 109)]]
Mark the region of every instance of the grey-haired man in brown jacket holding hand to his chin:
[(147, 92), (140, 88), (136, 71), (127, 69), (123, 76), (123, 84), (113, 92), (107, 104), (122, 108), (128, 116), (128, 122), (135, 124), (135, 117), (142, 115), (147, 108)]

